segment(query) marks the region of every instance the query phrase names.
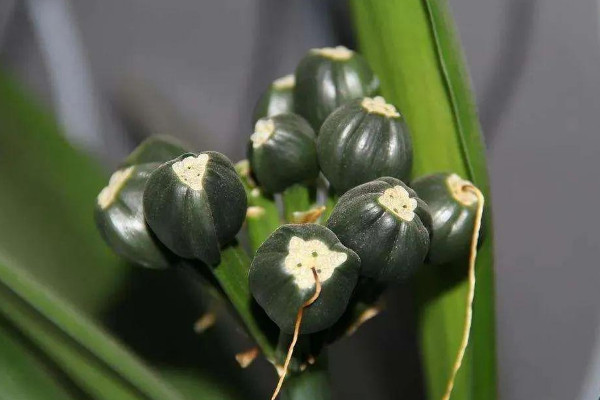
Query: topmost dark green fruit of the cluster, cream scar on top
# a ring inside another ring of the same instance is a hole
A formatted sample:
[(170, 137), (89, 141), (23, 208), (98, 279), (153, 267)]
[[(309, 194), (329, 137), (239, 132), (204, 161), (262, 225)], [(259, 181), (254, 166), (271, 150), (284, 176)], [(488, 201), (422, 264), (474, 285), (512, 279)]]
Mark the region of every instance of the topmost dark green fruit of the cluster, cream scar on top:
[(343, 46), (312, 49), (296, 68), (294, 107), (318, 133), (333, 110), (378, 90), (379, 79), (360, 54)]

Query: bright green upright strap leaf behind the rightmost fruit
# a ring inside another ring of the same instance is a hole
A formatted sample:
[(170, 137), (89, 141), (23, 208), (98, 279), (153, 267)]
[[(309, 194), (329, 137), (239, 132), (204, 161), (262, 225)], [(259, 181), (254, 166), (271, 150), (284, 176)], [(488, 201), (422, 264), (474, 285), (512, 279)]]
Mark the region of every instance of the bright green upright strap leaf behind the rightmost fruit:
[[(351, 5), (361, 50), (381, 79), (383, 95), (400, 108), (411, 128), (413, 175), (453, 171), (472, 180), (488, 199), (471, 343), (452, 398), (494, 399), (493, 255), (485, 151), (446, 1), (352, 0)], [(460, 264), (464, 267), (466, 260)], [(447, 271), (430, 269), (418, 282), (431, 399), (444, 393), (462, 335), (467, 284), (452, 279)]]

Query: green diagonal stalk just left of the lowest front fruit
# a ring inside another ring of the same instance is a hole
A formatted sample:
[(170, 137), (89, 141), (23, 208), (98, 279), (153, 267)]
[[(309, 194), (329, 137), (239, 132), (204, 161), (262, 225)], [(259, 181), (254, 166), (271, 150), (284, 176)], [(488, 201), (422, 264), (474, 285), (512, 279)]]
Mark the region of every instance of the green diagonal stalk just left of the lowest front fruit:
[(252, 298), (248, 286), (249, 267), (246, 252), (239, 245), (231, 245), (221, 252), (221, 263), (213, 269), (213, 274), (265, 358), (274, 362), (275, 344), (269, 334), (278, 329)]

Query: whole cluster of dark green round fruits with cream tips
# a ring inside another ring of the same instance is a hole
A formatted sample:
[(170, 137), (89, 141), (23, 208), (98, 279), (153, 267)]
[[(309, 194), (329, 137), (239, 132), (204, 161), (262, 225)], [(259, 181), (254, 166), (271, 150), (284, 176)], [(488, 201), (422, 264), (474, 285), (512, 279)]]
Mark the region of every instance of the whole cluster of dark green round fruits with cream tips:
[(195, 259), (210, 270), (247, 210), (264, 212), (248, 208), (249, 188), (269, 200), (291, 187), (325, 187), (333, 206), (308, 223), (284, 221), (243, 277), (288, 334), (333, 328), (365, 287), (406, 282), (426, 263), (469, 253), (479, 205), (472, 184), (452, 173), (408, 184), (409, 126), (352, 50), (310, 50), (294, 75), (275, 80), (258, 101), (247, 149), (249, 173), (240, 176), (220, 153), (147, 140), (99, 194), (100, 233), (140, 265)]

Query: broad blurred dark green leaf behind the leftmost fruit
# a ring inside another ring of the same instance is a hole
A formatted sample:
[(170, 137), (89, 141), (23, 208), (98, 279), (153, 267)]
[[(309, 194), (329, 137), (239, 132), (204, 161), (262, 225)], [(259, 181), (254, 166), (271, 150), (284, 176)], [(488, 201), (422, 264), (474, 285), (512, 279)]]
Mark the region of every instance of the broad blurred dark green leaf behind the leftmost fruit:
[(0, 249), (44, 285), (97, 313), (129, 271), (93, 224), (106, 175), (0, 73)]

